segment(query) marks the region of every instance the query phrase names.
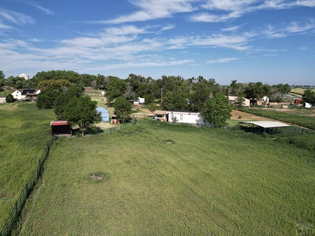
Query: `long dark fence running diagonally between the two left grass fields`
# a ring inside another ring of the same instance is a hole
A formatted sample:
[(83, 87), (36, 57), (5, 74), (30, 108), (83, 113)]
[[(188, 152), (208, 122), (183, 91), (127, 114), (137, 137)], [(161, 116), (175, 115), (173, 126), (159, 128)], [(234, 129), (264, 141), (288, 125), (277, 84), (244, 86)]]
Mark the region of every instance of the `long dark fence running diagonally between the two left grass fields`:
[(11, 234), (11, 231), (12, 231), (15, 223), (17, 222), (17, 220), (18, 220), (18, 218), (22, 212), (22, 209), (24, 207), (26, 199), (30, 196), (32, 189), (34, 188), (34, 186), (37, 182), (37, 179), (41, 175), (42, 166), (43, 166), (46, 158), (48, 157), (49, 150), (50, 150), (52, 144), (54, 143), (54, 141), (56, 139), (58, 139), (57, 135), (52, 136), (49, 143), (47, 144), (45, 153), (38, 160), (38, 166), (37, 166), (36, 171), (33, 173), (32, 177), (29, 179), (29, 181), (25, 184), (25, 187), (23, 188), (23, 191), (22, 191), (19, 199), (16, 201), (13, 209), (11, 210), (11, 213), (9, 214), (8, 219), (6, 220), (2, 230), (0, 232), (0, 236), (9, 236)]

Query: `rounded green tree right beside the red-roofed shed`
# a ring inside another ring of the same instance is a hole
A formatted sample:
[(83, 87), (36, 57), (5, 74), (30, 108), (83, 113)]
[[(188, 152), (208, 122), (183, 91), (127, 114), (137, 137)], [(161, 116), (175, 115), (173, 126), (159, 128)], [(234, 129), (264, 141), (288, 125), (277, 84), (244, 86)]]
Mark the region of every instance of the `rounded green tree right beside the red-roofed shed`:
[(65, 105), (63, 116), (71, 125), (78, 124), (82, 135), (94, 123), (101, 121), (101, 114), (96, 111), (97, 102), (90, 96), (73, 97)]

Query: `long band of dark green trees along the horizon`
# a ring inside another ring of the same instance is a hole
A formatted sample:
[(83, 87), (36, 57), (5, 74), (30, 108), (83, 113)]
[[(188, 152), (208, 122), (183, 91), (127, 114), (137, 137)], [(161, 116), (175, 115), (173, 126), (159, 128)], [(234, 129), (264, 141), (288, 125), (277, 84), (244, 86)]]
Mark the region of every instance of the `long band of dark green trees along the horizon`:
[[(66, 101), (67, 104), (71, 104), (72, 106), (78, 104), (79, 100), (70, 102), (70, 96), (77, 97), (77, 99), (86, 99), (83, 98), (84, 95), (82, 95), (85, 86), (92, 86), (95, 89), (104, 90), (105, 97), (109, 104), (117, 100), (120, 106), (123, 104), (124, 109), (127, 111), (131, 111), (130, 107), (127, 105), (127, 100), (135, 99), (140, 96), (145, 98), (146, 104), (161, 104), (163, 110), (185, 110), (194, 112), (203, 112), (207, 104), (209, 105), (209, 99), (219, 93), (224, 95), (224, 97), (227, 95), (239, 97), (236, 104), (241, 106), (244, 101), (243, 97), (250, 99), (252, 104), (255, 102), (255, 99), (260, 100), (266, 98), (268, 98), (270, 102), (281, 102), (291, 89), (288, 84), (270, 86), (261, 82), (238, 83), (237, 80), (232, 80), (230, 85), (220, 85), (215, 79), (206, 79), (203, 76), (184, 79), (181, 76), (163, 75), (161, 78), (155, 80), (151, 77), (146, 78), (141, 75), (129, 74), (126, 79), (120, 79), (115, 76), (79, 74), (74, 71), (65, 70), (38, 72), (30, 80), (13, 76), (9, 76), (5, 79), (3, 72), (0, 71), (0, 89), (2, 86), (12, 86), (16, 89), (41, 89), (42, 92), (38, 95), (36, 104), (38, 108), (54, 108), (58, 118), (64, 117), (67, 119), (70, 119), (69, 114), (65, 117), (64, 114), (66, 113), (58, 113), (57, 110), (60, 108), (58, 101), (60, 101), (60, 103), (62, 103), (61, 101)], [(80, 90), (81, 95), (72, 94), (72, 89), (70, 88)], [(314, 104), (315, 92), (306, 90), (303, 98), (306, 102)], [(116, 103), (116, 105), (118, 103)], [(266, 103), (265, 101), (265, 104)], [(65, 105), (63, 104), (63, 106)], [(69, 105), (68, 108), (70, 109), (70, 107)], [(116, 109), (115, 112), (120, 113), (120, 111)], [(128, 116), (123, 115), (126, 114), (126, 112), (121, 112), (120, 114), (122, 114), (120, 118), (123, 119), (123, 121), (128, 119)], [(73, 120), (73, 122), (79, 124), (81, 121)], [(81, 126), (84, 127), (85, 125), (82, 124)]]

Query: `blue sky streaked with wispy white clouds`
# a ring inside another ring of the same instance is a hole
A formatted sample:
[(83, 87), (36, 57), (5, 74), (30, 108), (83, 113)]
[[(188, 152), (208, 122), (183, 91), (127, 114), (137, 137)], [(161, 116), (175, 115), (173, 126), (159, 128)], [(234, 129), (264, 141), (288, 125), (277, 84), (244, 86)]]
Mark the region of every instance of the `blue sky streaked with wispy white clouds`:
[(1, 0), (0, 70), (315, 85), (315, 0)]

